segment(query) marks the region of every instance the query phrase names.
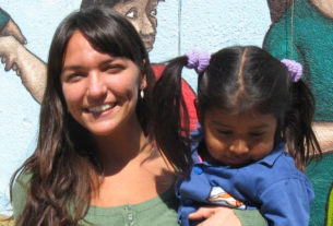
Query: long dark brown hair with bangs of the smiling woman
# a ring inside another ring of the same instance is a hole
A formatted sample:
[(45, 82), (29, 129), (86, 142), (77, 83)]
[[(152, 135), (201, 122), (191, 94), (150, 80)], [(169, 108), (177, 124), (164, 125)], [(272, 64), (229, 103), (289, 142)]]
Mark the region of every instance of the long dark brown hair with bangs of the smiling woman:
[(71, 13), (58, 26), (49, 50), (36, 151), (11, 179), (12, 200), (16, 177), (22, 174), (31, 177), (26, 205), (16, 219), (17, 226), (78, 225), (87, 213), (92, 192), (99, 186), (97, 174), (103, 168), (95, 158), (90, 132), (68, 114), (60, 82), (67, 45), (76, 31), (96, 50), (128, 58), (141, 69), (147, 87), (144, 99), (138, 100), (136, 115), (148, 135), (146, 98), (155, 79), (135, 28), (107, 4)]

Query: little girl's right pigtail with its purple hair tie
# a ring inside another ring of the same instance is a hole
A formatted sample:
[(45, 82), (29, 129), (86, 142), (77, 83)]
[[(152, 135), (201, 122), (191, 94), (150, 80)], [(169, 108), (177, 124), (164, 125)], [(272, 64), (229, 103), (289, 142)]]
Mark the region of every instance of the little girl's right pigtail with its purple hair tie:
[[(314, 97), (308, 85), (300, 80), (301, 66), (295, 61), (282, 62), (287, 67), (292, 80), (290, 108), (285, 117), (285, 134), (288, 153), (295, 158), (296, 167), (305, 170), (321, 148), (312, 130)], [(300, 67), (300, 68), (299, 68)]]

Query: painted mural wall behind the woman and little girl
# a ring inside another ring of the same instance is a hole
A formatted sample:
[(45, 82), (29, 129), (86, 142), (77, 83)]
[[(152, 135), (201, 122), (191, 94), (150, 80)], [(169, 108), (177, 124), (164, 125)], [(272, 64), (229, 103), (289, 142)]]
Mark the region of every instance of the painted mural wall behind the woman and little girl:
[[(0, 83), (5, 80), (0, 84), (0, 90), (8, 91), (2, 95), (0, 93), (0, 130), (2, 133), (0, 134), (0, 143), (2, 143), (0, 158), (8, 158), (9, 163), (14, 165), (12, 168), (3, 164), (3, 168), (0, 166), (0, 213), (11, 213), (10, 206), (7, 205), (8, 193), (5, 191), (10, 176), (3, 174), (12, 174), (13, 169), (22, 164), (22, 160), (34, 150), (38, 103), (43, 100), (45, 90), (47, 50), (51, 35), (66, 14), (93, 2), (102, 1), (114, 4), (115, 10), (127, 16), (135, 26), (150, 51), (151, 61), (156, 62), (154, 71), (157, 78), (164, 69), (164, 66), (158, 62), (192, 48), (213, 52), (224, 46), (261, 46), (263, 43), (264, 48), (278, 58), (299, 60), (306, 67), (307, 79), (312, 84), (317, 99), (320, 99), (317, 102), (319, 111), (314, 127), (321, 134), (320, 141), (324, 150), (333, 151), (333, 90), (329, 90), (333, 82), (332, 70), (330, 70), (333, 67), (333, 37), (329, 35), (333, 31), (331, 0), (298, 0), (295, 4), (292, 0), (267, 0), (267, 2), (261, 1), (260, 3), (258, 0), (212, 1), (212, 3), (207, 3), (206, 0), (75, 0), (70, 3), (67, 0), (55, 0), (52, 3), (38, 0), (29, 3), (28, 10), (37, 15), (40, 14), (46, 24), (35, 22), (34, 16), (20, 17), (20, 13), (26, 11), (25, 7), (20, 5), (27, 4), (26, 1), (17, 0), (16, 3), (13, 3), (0, 0), (0, 57), (3, 66), (0, 68), (2, 70), (0, 71)], [(61, 7), (56, 7), (56, 4)], [(52, 13), (53, 8), (63, 12)], [(43, 10), (47, 12), (44, 14)], [(290, 36), (292, 14), (293, 36)], [(309, 24), (304, 23), (305, 16), (309, 16), (309, 20), (306, 20)], [(23, 23), (24, 20), (27, 20), (27, 23), (35, 23), (29, 26)], [(312, 28), (306, 28), (308, 26)], [(47, 35), (44, 36), (43, 32), (37, 32), (43, 29), (47, 29)], [(7, 78), (12, 74), (16, 74), (17, 78)], [(197, 126), (193, 107), (195, 86), (191, 85), (195, 82), (195, 74), (185, 71), (182, 92), (187, 96), (186, 104), (191, 116), (192, 128)], [(22, 83), (22, 85), (17, 83)], [(17, 112), (19, 110), (25, 112)], [(16, 116), (19, 117), (15, 118)], [(17, 127), (22, 128), (17, 129)], [(8, 141), (9, 136), (12, 140)], [(12, 148), (19, 151), (13, 154), (4, 154), (11, 152)], [(332, 163), (332, 160), (333, 158), (330, 157), (325, 158), (323, 163)], [(313, 166), (309, 176), (321, 178), (321, 174), (325, 174), (325, 178), (330, 177), (328, 170), (317, 166)], [(332, 179), (330, 180), (331, 186)], [(328, 190), (326, 195), (320, 197), (321, 202), (316, 206), (321, 210), (319, 219), (316, 219), (317, 223), (323, 222), (325, 215), (328, 218), (323, 206), (329, 206), (330, 203), (329, 186), (324, 189)], [(328, 210), (332, 210), (332, 206)], [(326, 221), (329, 225), (329, 219)]]

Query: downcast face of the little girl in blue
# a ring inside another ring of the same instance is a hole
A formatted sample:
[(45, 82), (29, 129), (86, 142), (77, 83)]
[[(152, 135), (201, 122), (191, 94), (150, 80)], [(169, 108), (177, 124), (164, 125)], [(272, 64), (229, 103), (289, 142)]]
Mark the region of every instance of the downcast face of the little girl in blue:
[[(219, 109), (199, 116), (211, 160), (241, 166), (259, 160), (274, 146), (277, 121), (273, 115), (229, 114)], [(209, 158), (210, 158), (209, 157)]]

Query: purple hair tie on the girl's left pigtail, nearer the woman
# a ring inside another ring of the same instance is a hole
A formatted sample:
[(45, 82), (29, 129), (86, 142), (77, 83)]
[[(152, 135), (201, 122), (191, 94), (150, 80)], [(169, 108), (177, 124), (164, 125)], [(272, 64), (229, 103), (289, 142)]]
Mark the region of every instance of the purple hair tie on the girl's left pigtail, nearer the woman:
[(185, 55), (188, 57), (187, 68), (195, 69), (197, 73), (203, 72), (210, 64), (211, 55), (207, 51), (193, 49)]

